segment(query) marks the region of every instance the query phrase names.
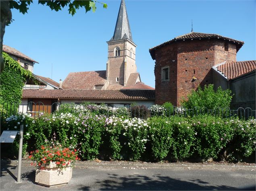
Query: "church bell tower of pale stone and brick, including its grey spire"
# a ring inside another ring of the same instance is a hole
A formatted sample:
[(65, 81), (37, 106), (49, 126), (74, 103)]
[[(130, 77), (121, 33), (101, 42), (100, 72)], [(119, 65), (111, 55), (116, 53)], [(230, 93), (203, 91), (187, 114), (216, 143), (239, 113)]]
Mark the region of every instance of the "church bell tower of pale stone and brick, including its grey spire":
[(126, 12), (125, 0), (121, 0), (114, 35), (108, 43), (106, 79), (108, 85), (126, 86), (131, 73), (137, 73), (135, 49)]

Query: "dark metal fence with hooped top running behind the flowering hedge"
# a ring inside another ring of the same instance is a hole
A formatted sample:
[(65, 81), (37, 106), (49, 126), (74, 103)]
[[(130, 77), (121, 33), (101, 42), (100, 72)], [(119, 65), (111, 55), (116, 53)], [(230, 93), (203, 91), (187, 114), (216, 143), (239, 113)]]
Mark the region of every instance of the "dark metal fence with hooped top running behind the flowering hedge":
[(54, 112), (69, 112), (73, 114), (94, 112), (96, 114), (103, 114), (106, 116), (129, 116), (137, 118), (148, 118), (152, 116), (184, 116), (193, 117), (199, 114), (209, 114), (213, 116), (219, 116), (222, 118), (229, 118), (231, 116), (237, 116), (239, 118), (256, 118), (256, 110), (251, 108), (238, 108), (237, 110), (231, 110), (229, 108), (218, 108), (215, 110), (209, 110), (207, 108), (193, 108), (186, 109), (182, 107), (170, 107), (163, 108), (162, 106), (153, 105), (146, 106), (129, 106), (126, 105), (123, 108), (117, 108), (114, 105), (96, 105), (96, 104), (66, 104), (66, 103), (53, 103), (51, 105), (44, 105), (42, 102), (29, 102), (28, 104), (8, 103), (4, 102), (0, 105), (0, 112), (2, 118), (7, 118), (11, 115), (18, 113), (29, 113), (32, 117), (40, 116), (44, 113)]

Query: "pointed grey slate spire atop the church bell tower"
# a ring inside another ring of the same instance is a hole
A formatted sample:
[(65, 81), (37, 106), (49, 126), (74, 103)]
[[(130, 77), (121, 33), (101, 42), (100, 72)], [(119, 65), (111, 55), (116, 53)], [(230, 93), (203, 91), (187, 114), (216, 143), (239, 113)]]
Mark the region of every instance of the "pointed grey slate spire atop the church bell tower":
[(114, 28), (114, 35), (110, 39), (110, 41), (116, 41), (121, 39), (129, 39), (133, 42), (133, 39), (131, 37), (129, 20), (126, 12), (125, 0), (121, 0), (116, 27)]

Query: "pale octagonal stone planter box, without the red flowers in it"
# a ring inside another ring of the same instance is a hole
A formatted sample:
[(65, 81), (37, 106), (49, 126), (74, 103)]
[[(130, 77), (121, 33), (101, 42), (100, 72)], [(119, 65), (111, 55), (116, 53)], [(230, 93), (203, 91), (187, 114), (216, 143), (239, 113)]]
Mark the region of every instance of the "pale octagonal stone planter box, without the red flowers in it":
[(43, 170), (35, 171), (35, 182), (46, 187), (66, 185), (72, 177), (72, 167), (58, 168), (55, 162), (51, 162)]

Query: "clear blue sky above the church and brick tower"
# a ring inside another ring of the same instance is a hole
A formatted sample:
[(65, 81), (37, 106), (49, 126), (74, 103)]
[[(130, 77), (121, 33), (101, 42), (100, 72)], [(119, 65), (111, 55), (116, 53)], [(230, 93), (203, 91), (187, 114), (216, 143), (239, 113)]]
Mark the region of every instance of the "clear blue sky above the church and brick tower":
[[(109, 41), (114, 33), (121, 0), (100, 0), (96, 12), (67, 8), (52, 11), (30, 5), (28, 14), (12, 10), (14, 21), (6, 26), (4, 44), (31, 57), (36, 75), (64, 80), (70, 72), (106, 70)], [(142, 81), (155, 87), (154, 63), (149, 49), (191, 32), (213, 33), (244, 41), (237, 61), (256, 60), (255, 0), (173, 1), (125, 0), (136, 65)]]

